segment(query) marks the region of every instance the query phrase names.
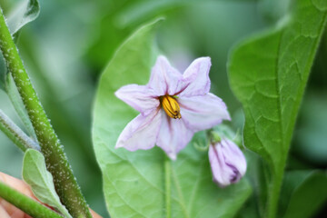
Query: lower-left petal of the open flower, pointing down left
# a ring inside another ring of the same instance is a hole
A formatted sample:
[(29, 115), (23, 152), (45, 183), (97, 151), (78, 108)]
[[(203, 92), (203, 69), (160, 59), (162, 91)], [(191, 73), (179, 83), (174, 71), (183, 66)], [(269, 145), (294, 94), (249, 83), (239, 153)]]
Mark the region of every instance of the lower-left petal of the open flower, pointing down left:
[(160, 110), (155, 109), (147, 116), (139, 114), (126, 125), (122, 134), (119, 135), (115, 147), (124, 147), (131, 152), (154, 147), (161, 123), (162, 113)]

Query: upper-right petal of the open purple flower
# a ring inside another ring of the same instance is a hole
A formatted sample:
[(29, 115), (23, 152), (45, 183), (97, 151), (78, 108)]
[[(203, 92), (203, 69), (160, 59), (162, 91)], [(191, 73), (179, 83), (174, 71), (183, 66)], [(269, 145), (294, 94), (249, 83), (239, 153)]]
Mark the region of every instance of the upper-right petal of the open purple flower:
[(210, 78), (209, 71), (211, 67), (210, 57), (200, 57), (183, 73), (183, 85), (185, 88), (180, 96), (194, 96), (209, 93)]

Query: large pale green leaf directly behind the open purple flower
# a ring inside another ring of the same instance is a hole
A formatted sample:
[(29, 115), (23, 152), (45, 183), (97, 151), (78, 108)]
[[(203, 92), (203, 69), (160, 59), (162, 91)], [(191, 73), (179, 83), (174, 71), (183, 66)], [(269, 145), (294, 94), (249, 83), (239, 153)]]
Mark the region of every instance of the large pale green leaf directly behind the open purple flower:
[[(124, 84), (148, 82), (156, 58), (157, 23), (144, 25), (125, 41), (104, 69), (97, 90), (93, 141), (107, 208), (113, 218), (233, 217), (251, 187), (243, 180), (219, 188), (212, 181), (207, 151), (198, 151), (191, 143), (171, 162), (158, 147), (136, 152), (114, 148), (124, 126), (137, 115), (114, 92)], [(194, 138), (193, 142), (205, 140)]]

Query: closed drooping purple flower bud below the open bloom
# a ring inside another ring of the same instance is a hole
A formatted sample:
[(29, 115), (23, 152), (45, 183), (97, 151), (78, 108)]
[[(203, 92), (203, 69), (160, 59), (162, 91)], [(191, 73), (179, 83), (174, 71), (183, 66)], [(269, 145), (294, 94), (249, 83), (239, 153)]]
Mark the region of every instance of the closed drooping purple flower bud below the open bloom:
[(213, 181), (221, 186), (237, 183), (246, 172), (246, 160), (240, 148), (225, 138), (210, 145), (209, 160)]

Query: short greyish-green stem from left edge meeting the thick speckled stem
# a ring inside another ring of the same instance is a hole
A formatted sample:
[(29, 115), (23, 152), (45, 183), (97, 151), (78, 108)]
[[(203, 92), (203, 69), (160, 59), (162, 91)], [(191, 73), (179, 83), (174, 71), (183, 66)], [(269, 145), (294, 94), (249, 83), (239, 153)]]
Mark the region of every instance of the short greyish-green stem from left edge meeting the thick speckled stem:
[(40, 150), (39, 145), (28, 137), (13, 121), (11, 121), (2, 110), (0, 110), (0, 130), (23, 152), (25, 152), (27, 148)]

